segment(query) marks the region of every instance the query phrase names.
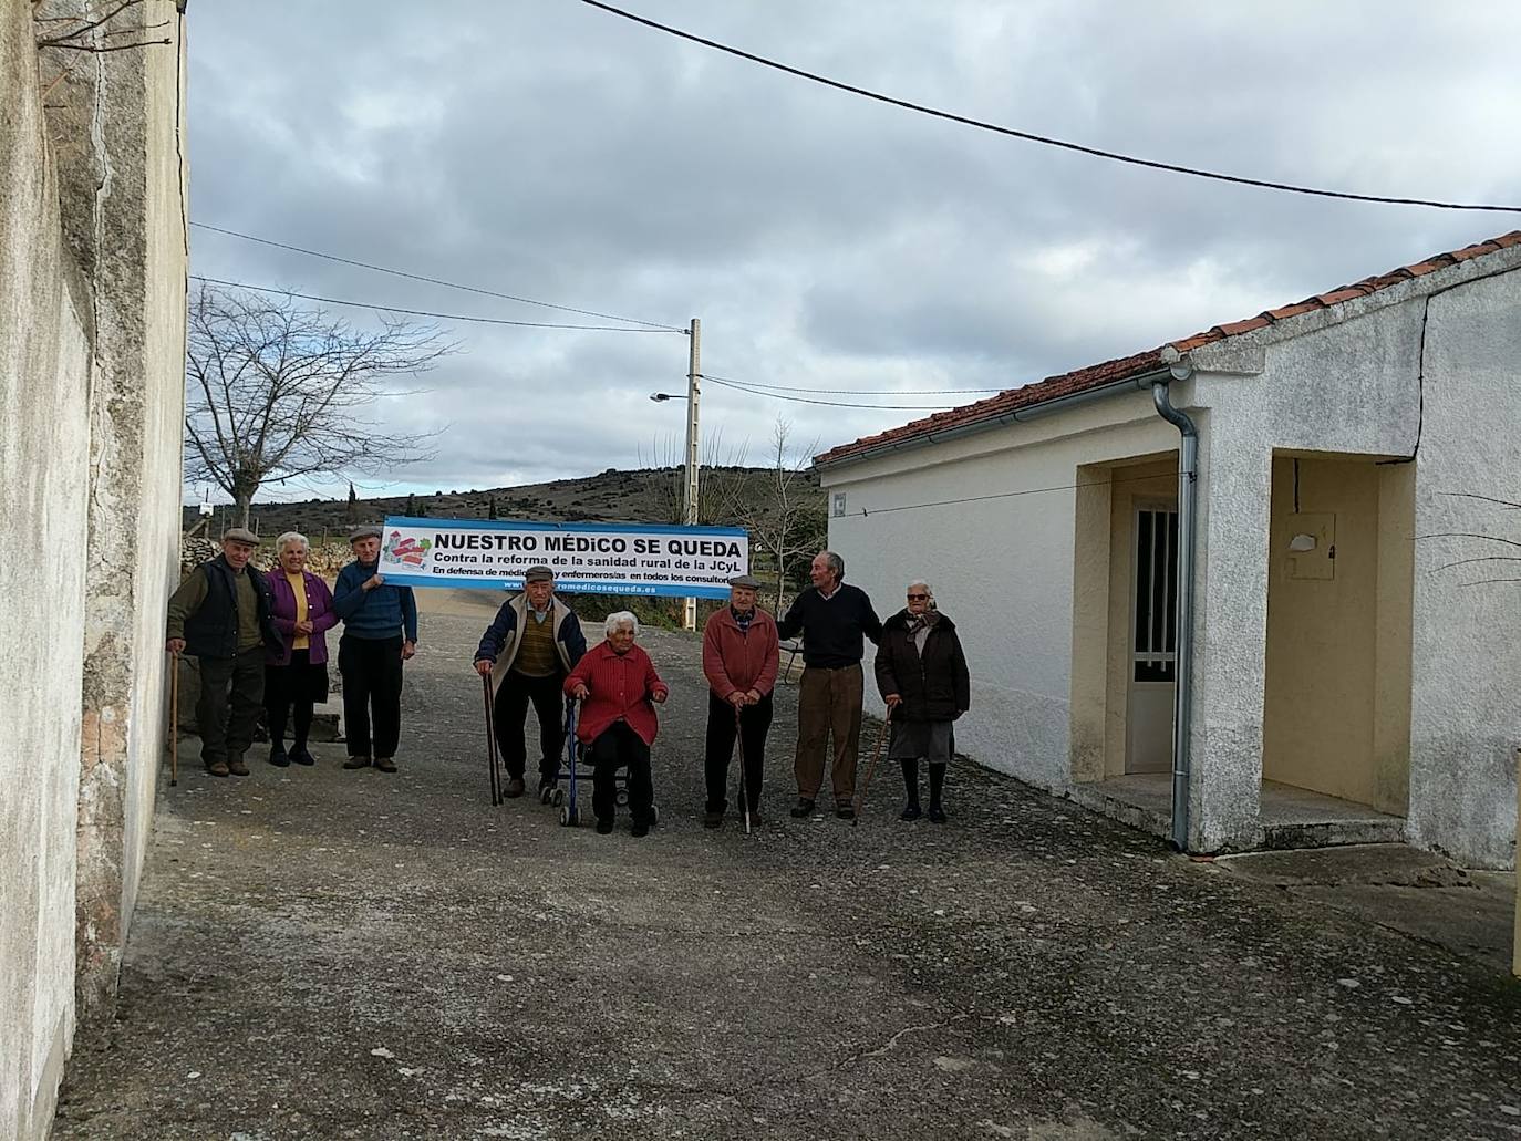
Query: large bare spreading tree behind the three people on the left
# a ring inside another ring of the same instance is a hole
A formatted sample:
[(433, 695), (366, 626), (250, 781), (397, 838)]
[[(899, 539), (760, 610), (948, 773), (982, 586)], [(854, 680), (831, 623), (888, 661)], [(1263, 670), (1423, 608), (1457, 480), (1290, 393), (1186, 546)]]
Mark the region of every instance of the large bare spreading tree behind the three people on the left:
[(186, 475), (233, 496), (246, 526), (269, 481), (427, 459), (437, 432), (382, 440), (362, 409), (412, 396), (388, 382), (453, 351), (432, 326), (380, 318), (377, 330), (359, 330), (289, 297), (202, 284), (190, 300)]

